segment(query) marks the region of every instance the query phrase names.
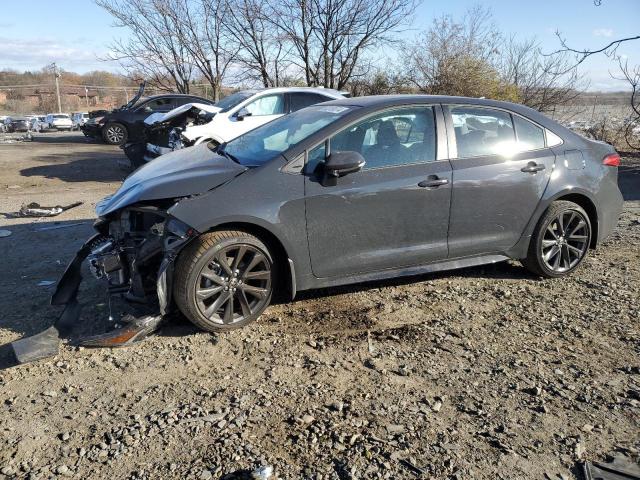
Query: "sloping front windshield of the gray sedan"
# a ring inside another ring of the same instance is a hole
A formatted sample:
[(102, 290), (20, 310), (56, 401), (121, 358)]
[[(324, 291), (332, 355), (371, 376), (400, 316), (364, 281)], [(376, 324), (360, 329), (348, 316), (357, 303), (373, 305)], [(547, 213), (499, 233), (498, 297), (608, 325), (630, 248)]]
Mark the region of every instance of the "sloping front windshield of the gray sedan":
[(241, 165), (259, 166), (336, 121), (353, 107), (316, 105), (256, 128), (224, 145), (223, 152)]

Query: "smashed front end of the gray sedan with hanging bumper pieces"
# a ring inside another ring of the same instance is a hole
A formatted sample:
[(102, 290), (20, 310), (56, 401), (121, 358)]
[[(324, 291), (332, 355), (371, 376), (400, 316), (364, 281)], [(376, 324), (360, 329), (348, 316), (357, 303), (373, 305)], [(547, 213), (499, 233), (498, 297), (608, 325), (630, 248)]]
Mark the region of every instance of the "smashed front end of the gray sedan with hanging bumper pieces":
[(60, 338), (71, 336), (80, 324), (77, 296), (85, 260), (91, 274), (105, 282), (110, 300), (117, 296), (136, 304), (157, 304), (158, 313), (142, 317), (127, 315), (120, 319), (123, 327), (82, 339), (80, 345), (129, 345), (161, 325), (171, 304), (175, 258), (197, 235), (191, 227), (166, 213), (166, 208), (173, 203), (130, 206), (96, 221), (97, 233), (78, 250), (51, 298), (52, 305), (65, 307), (62, 314), (44, 332), (13, 342), (18, 362), (56, 355)]

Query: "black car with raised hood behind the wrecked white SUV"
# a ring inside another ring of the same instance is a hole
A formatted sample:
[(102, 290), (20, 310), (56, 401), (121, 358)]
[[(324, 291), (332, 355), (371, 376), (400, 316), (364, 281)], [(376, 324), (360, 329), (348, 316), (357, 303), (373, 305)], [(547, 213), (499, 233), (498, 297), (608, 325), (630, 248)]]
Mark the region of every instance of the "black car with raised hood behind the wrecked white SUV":
[(138, 94), (126, 105), (113, 110), (104, 116), (90, 118), (82, 127), (85, 135), (101, 138), (110, 145), (122, 145), (130, 137), (140, 134), (142, 120), (153, 113), (173, 110), (185, 103), (213, 104), (211, 100), (195, 95), (167, 93), (143, 97), (144, 84), (140, 86)]

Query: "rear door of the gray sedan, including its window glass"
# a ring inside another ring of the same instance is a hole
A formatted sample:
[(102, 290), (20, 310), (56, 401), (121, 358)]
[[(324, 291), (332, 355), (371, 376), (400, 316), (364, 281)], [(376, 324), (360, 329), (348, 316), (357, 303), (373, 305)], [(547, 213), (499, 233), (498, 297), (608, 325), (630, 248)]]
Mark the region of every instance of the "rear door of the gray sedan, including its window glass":
[(452, 149), (452, 258), (498, 253), (520, 239), (549, 182), (555, 155), (544, 130), (515, 113), (445, 108)]

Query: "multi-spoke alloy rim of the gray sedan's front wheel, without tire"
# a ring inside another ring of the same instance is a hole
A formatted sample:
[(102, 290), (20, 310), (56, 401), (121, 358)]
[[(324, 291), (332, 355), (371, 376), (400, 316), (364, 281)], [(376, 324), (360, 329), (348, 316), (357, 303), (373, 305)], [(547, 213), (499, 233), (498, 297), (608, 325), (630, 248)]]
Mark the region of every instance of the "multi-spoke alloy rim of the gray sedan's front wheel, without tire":
[(230, 325), (261, 310), (270, 291), (269, 259), (252, 245), (236, 244), (221, 249), (202, 268), (195, 300), (205, 317)]

